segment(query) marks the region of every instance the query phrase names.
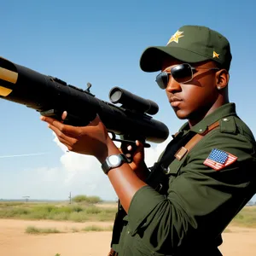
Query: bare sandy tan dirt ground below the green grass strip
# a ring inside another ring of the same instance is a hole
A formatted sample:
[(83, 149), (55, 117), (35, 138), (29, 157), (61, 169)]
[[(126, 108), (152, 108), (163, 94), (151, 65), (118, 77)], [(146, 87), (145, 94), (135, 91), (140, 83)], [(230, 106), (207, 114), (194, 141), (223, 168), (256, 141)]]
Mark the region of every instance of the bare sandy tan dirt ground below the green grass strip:
[[(90, 225), (110, 226), (112, 223), (70, 223), (0, 219), (0, 255), (4, 256), (104, 256), (108, 255), (110, 231), (73, 232)], [(49, 235), (26, 234), (28, 226), (51, 228), (66, 233)], [(224, 233), (224, 256), (255, 256), (256, 229), (230, 226)]]

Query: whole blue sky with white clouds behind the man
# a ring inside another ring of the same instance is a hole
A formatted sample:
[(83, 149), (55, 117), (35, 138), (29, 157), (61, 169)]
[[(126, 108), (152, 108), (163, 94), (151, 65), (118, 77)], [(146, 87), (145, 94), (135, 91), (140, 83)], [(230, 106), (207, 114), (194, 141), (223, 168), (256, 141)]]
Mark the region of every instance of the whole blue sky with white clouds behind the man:
[[(175, 133), (183, 121), (139, 58), (148, 46), (165, 45), (180, 26), (209, 26), (230, 40), (230, 102), (256, 134), (255, 9), (253, 0), (2, 1), (0, 55), (80, 88), (90, 82), (104, 101), (119, 86), (158, 102), (155, 119)], [(67, 154), (38, 113), (4, 100), (0, 109), (0, 198), (67, 199), (69, 192), (116, 198), (96, 160)], [(147, 149), (148, 165), (165, 145)], [(10, 157), (20, 154), (33, 155)]]

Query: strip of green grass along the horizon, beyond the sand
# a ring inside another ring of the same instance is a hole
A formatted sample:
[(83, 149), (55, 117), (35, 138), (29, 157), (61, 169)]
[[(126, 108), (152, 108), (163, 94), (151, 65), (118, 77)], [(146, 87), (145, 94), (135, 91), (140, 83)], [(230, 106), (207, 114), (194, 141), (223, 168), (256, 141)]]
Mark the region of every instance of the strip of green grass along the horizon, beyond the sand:
[[(95, 200), (96, 201), (96, 200)], [(73, 222), (102, 221), (113, 222), (117, 211), (116, 203), (102, 207), (102, 203), (88, 202), (67, 203), (37, 203), (0, 201), (0, 218), (16, 219), (51, 219)], [(256, 207), (244, 207), (230, 223), (240, 227), (256, 228)], [(93, 230), (95, 227), (90, 228)], [(101, 228), (102, 229), (102, 228)], [(229, 232), (228, 230), (226, 232)]]

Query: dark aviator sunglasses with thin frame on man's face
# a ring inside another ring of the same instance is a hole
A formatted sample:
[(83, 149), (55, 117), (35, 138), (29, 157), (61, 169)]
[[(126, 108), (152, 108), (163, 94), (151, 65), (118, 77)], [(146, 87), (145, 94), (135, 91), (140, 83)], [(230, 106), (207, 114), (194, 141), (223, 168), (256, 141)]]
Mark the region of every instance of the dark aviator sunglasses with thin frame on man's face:
[(178, 64), (171, 68), (171, 71), (163, 71), (156, 76), (155, 82), (159, 85), (160, 89), (166, 89), (169, 82), (169, 74), (179, 84), (188, 83), (193, 79), (193, 74), (196, 69), (219, 70), (218, 67), (192, 67), (189, 63)]

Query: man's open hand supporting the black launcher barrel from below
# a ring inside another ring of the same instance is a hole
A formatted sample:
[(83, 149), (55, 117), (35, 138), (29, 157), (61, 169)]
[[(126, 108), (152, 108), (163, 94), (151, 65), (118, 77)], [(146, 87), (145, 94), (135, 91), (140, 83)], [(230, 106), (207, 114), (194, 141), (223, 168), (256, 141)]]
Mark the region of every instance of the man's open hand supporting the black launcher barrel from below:
[[(61, 118), (65, 120), (66, 117), (67, 112), (64, 111)], [(100, 161), (108, 156), (108, 143), (111, 139), (98, 115), (83, 127), (64, 125), (61, 121), (45, 116), (41, 116), (41, 120), (48, 123), (49, 128), (69, 151), (94, 155)]]

